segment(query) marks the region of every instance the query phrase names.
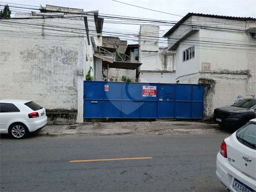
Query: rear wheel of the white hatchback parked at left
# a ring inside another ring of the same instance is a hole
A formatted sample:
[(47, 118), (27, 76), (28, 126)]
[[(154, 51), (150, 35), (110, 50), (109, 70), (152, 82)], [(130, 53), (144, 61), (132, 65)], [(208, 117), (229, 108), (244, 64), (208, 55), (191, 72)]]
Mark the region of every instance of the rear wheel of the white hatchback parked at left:
[(24, 139), (29, 133), (28, 128), (22, 123), (12, 124), (8, 132), (13, 139)]

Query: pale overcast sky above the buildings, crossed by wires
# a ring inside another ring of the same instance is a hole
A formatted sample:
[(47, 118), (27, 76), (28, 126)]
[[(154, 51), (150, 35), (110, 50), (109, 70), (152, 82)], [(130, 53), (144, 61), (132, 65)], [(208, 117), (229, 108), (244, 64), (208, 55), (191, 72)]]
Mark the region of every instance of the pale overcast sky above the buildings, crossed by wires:
[[(99, 14), (114, 14), (121, 16), (133, 16), (140, 18), (150, 18), (156, 20), (178, 21), (188, 12), (216, 14), (225, 16), (254, 17), (256, 18), (256, 0), (118, 0), (128, 4), (141, 6), (177, 14), (174, 16), (152, 10), (122, 4), (112, 0), (2, 0), (2, 2), (26, 4), (33, 6), (45, 6), (46, 4), (82, 8), (84, 11), (99, 10)], [(2, 3), (1, 4), (4, 4)], [(104, 23), (104, 28), (112, 30), (124, 30), (138, 34), (140, 25), (108, 24)], [(160, 36), (162, 36), (171, 26), (160, 26)], [(161, 31), (162, 30), (162, 31)], [(137, 42), (129, 41), (129, 44)]]

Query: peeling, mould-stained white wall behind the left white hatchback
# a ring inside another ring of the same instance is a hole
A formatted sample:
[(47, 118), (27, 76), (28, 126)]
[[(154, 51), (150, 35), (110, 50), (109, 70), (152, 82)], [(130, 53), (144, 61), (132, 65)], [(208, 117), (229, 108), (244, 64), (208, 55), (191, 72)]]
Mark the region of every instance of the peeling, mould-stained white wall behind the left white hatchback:
[[(68, 26), (73, 20), (30, 22), (44, 25), (26, 28), (27, 33), (15, 25), (1, 28), (12, 32), (0, 34), (0, 98), (33, 100), (44, 106), (48, 115), (55, 114), (49, 118), (52, 121), (82, 122), (83, 80), (90, 66), (86, 66), (86, 54), (92, 57), (88, 52), (91, 45), (84, 37), (45, 27), (54, 22)], [(83, 20), (76, 24), (84, 28)]]

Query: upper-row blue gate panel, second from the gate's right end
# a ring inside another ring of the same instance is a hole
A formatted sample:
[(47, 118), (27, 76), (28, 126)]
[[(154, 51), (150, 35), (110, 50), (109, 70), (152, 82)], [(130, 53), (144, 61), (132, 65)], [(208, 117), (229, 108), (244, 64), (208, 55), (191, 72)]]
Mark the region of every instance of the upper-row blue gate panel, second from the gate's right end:
[(192, 85), (176, 84), (176, 100), (191, 101)]

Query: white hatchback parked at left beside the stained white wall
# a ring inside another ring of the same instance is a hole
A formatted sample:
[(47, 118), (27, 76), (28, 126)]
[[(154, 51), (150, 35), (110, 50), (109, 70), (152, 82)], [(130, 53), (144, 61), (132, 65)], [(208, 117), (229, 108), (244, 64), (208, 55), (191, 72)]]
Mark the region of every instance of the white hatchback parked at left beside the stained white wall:
[(47, 123), (45, 108), (30, 100), (0, 99), (0, 133), (25, 138)]

